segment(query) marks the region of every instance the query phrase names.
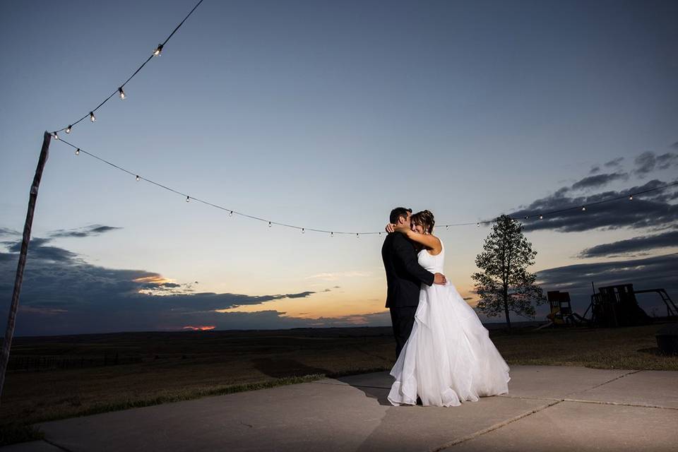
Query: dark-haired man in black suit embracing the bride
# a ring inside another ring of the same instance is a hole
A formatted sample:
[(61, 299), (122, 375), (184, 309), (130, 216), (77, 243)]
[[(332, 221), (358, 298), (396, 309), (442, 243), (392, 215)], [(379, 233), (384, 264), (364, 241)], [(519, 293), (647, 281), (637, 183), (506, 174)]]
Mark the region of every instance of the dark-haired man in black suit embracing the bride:
[[(391, 224), (410, 227), (412, 209), (396, 207), (391, 210)], [(445, 275), (435, 275), (417, 262), (415, 245), (400, 232), (386, 236), (381, 246), (383, 267), (386, 268), (386, 307), (391, 309), (393, 335), (396, 336), (396, 359), (410, 337), (419, 304), (419, 291), (426, 285), (445, 284)]]

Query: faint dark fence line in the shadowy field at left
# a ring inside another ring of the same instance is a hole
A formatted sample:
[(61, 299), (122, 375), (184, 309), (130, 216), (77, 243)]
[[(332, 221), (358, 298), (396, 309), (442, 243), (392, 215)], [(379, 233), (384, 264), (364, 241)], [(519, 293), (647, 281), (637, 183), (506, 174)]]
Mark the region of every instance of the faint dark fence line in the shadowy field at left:
[(49, 369), (79, 369), (82, 367), (115, 366), (117, 364), (136, 364), (141, 357), (103, 356), (10, 356), (8, 371), (40, 371)]

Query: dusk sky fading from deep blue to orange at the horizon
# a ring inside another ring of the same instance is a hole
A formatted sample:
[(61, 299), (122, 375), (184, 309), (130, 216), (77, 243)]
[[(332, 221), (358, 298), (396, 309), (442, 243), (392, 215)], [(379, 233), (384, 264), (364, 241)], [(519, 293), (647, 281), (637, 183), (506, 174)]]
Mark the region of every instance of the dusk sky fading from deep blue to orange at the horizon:
[[(2, 318), (42, 134), (114, 92), (193, 6), (0, 4)], [(301, 227), (380, 231), (396, 206), (439, 225), (522, 217), (678, 180), (676, 23), (675, 1), (205, 0), (125, 100), (61, 136)], [(269, 228), (49, 152), (17, 335), (390, 324), (383, 237)], [(580, 313), (592, 281), (678, 299), (677, 193), (525, 220), (530, 270)], [(435, 231), (472, 306), (489, 230)]]

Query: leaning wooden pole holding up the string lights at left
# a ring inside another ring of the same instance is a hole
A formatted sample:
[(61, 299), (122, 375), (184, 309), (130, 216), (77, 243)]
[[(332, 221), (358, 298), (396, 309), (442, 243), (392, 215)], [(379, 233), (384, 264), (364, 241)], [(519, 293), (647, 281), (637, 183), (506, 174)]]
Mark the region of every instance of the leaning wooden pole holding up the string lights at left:
[(52, 134), (44, 133), (42, 140), (42, 150), (40, 150), (40, 159), (37, 161), (37, 168), (35, 169), (35, 177), (30, 186), (30, 195), (28, 196), (28, 213), (26, 213), (26, 222), (23, 225), (23, 240), (21, 241), (21, 253), (19, 254), (19, 263), (16, 266), (16, 278), (14, 278), (14, 292), (12, 293), (12, 304), (9, 308), (9, 316), (7, 318), (7, 329), (5, 331), (5, 339), (2, 343), (2, 355), (0, 355), (0, 398), (2, 396), (2, 388), (5, 383), (5, 373), (7, 371), (7, 364), (9, 362), (9, 349), (12, 346), (12, 338), (14, 335), (14, 323), (16, 322), (16, 311), (19, 307), (19, 292), (21, 292), (21, 283), (23, 281), (23, 268), (26, 266), (26, 256), (28, 255), (28, 242), (30, 242), (30, 228), (33, 225), (33, 210), (35, 210), (35, 201), (37, 201), (37, 189), (40, 187), (40, 179), (42, 179), (42, 169), (49, 157), (49, 142), (52, 141)]

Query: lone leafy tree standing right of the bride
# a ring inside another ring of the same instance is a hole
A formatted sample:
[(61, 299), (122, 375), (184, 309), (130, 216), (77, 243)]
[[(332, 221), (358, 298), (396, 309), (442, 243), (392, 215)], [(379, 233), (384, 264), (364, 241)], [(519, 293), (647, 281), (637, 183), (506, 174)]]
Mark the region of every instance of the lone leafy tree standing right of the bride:
[(538, 306), (546, 300), (541, 287), (535, 285), (537, 276), (527, 270), (534, 265), (537, 251), (533, 251), (532, 244), (523, 235), (523, 225), (501, 215), (482, 248), (482, 253), (475, 258), (475, 265), (481, 271), (471, 275), (480, 296), (477, 309), (489, 317), (503, 312), (509, 330), (509, 311), (534, 318), (533, 302)]

